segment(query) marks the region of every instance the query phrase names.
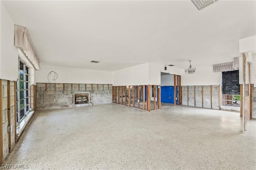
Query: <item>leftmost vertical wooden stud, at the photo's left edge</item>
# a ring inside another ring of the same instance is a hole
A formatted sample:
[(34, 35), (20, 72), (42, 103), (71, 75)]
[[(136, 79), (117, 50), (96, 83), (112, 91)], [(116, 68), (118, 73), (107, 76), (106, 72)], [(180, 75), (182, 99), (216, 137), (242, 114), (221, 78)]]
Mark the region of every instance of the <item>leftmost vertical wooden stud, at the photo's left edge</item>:
[[(2, 79), (0, 79), (0, 164), (3, 164), (3, 157), (4, 157), (4, 153), (3, 153), (3, 100), (2, 100)], [(16, 121), (15, 121), (16, 123)]]

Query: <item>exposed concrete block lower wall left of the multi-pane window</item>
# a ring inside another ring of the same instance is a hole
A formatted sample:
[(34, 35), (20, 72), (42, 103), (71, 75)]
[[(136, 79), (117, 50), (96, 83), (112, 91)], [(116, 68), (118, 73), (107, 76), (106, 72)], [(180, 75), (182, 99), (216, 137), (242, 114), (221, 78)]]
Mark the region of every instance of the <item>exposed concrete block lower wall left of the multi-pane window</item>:
[[(15, 89), (14, 83), (15, 81), (9, 81), (10, 83), (10, 90), (8, 90), (8, 80), (1, 80), (2, 81), (2, 142), (3, 142), (3, 159), (9, 154), (9, 135), (10, 135), (10, 151), (14, 148), (15, 145)], [(10, 98), (10, 99), (9, 99)], [(8, 110), (10, 111), (10, 117), (8, 117)], [(8, 121), (10, 119), (10, 127), (11, 131), (10, 134), (8, 133)]]

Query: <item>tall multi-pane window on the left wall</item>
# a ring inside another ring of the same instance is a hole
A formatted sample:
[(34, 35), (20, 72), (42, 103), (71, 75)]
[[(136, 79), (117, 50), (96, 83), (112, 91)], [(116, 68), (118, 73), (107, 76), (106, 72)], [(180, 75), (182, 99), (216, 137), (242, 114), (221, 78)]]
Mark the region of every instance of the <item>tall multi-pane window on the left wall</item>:
[(19, 61), (19, 78), (17, 81), (17, 91), (16, 91), (16, 123), (20, 121), (27, 115), (30, 111), (30, 99), (29, 99), (29, 74), (28, 66), (24, 64), (23, 61)]

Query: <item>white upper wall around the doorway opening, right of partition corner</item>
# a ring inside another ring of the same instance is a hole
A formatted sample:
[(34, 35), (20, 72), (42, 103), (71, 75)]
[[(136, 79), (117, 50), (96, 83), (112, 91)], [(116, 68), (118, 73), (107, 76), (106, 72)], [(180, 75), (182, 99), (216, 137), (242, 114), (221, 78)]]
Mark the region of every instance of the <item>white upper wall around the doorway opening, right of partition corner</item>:
[[(149, 85), (160, 85), (161, 84), (161, 70), (164, 70), (164, 65), (155, 63), (149, 63)], [(181, 75), (182, 69), (167, 66), (167, 70), (170, 74)]]

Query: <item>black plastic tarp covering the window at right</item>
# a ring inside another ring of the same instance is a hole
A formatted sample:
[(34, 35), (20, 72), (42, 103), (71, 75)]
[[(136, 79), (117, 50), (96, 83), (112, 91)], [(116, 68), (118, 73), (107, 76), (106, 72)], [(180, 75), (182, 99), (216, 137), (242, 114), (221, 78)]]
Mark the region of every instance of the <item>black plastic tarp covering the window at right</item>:
[(239, 70), (222, 72), (222, 94), (240, 95)]

